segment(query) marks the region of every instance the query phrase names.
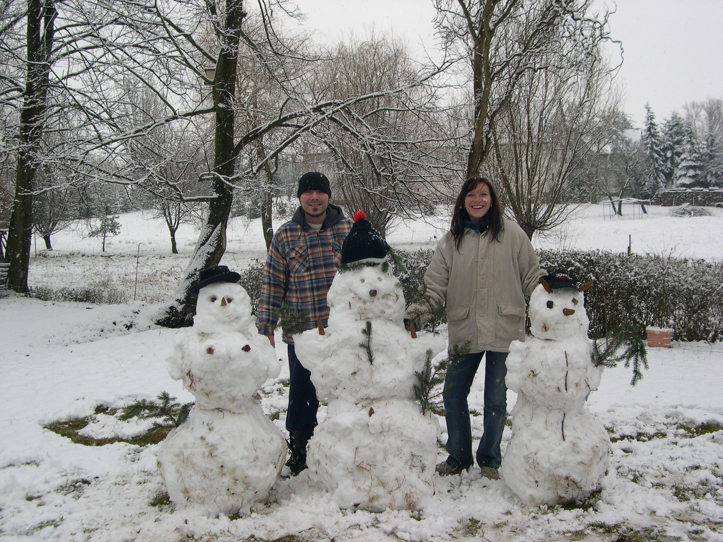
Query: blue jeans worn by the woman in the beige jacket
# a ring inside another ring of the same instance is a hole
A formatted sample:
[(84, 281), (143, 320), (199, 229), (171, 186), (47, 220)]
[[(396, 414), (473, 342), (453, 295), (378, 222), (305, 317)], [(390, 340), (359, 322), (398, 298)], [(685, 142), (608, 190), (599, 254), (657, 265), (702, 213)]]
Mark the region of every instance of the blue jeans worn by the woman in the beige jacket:
[(507, 374), (506, 352), (476, 352), (467, 354), (461, 361), (450, 364), (445, 377), (442, 394), (445, 403), (447, 421), (447, 463), (454, 468), (469, 468), (472, 459), (472, 431), (469, 423), (467, 396), (474, 375), (485, 358), (484, 366), (484, 430), (477, 448), (477, 465), (480, 467), (500, 468), (502, 453), (502, 431), (505, 429), (507, 415)]

